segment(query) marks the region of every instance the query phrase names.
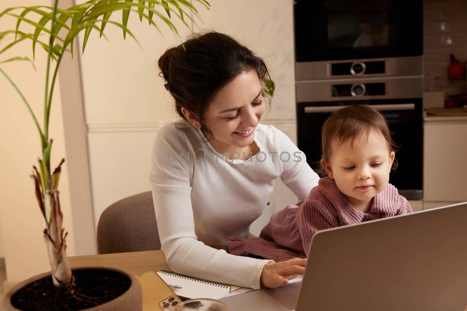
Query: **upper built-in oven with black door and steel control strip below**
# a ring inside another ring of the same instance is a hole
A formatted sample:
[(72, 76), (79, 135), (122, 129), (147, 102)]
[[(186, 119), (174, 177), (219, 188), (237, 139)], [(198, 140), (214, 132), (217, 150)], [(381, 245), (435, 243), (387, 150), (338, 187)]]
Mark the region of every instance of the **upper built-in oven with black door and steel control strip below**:
[(296, 79), (422, 75), (423, 0), (295, 0)]

